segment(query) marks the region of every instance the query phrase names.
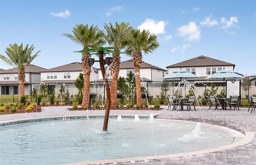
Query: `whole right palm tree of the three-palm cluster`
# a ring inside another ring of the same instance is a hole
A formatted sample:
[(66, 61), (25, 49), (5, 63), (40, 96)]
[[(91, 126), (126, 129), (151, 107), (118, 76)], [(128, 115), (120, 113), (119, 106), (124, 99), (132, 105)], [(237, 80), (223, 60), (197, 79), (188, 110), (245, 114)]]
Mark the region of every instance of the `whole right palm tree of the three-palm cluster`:
[(152, 53), (159, 47), (157, 35), (150, 33), (148, 30), (132, 29), (128, 38), (121, 42), (122, 46), (126, 46), (126, 53), (132, 56), (135, 70), (136, 96), (137, 104), (142, 106), (141, 86), (140, 86), (140, 64), (142, 63), (142, 51), (145, 54)]

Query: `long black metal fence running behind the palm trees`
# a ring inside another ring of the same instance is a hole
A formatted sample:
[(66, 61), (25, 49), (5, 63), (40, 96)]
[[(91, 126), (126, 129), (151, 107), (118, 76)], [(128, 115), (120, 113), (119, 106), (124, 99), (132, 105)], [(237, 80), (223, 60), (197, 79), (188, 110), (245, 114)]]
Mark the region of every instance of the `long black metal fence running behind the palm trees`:
[[(136, 88), (127, 84), (122, 92), (122, 99), (118, 101), (131, 103), (136, 97)], [(152, 103), (159, 103), (164, 99), (167, 102), (167, 96), (177, 95), (178, 97), (188, 97), (188, 95), (196, 95), (197, 98), (203, 98), (207, 95), (217, 95), (225, 97), (226, 82), (224, 83), (142, 83), (142, 92), (150, 95)], [(134, 89), (133, 89), (134, 88)], [(19, 85), (0, 85), (0, 102), (18, 102), (19, 101)], [(96, 93), (101, 101), (106, 101), (106, 91), (104, 84), (91, 84), (90, 92)], [(42, 101), (49, 101), (49, 94), (54, 93), (54, 101), (63, 101), (68, 97), (70, 101), (77, 101), (76, 95), (79, 93), (78, 88), (74, 84), (25, 84), (24, 94), (27, 101), (36, 101), (38, 95), (42, 95)], [(256, 83), (240, 83), (240, 103), (248, 102), (247, 96), (256, 95)], [(143, 99), (146, 101), (146, 98)]]

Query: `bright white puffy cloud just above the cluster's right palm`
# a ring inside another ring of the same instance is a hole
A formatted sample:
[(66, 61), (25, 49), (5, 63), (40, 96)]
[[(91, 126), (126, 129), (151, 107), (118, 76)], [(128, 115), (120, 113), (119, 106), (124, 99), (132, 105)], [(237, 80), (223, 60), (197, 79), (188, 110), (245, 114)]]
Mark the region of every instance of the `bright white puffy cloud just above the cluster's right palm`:
[(153, 19), (146, 19), (139, 27), (138, 29), (141, 30), (149, 30), (151, 33), (154, 34), (162, 34), (165, 33), (164, 27), (167, 23), (164, 21), (156, 21)]

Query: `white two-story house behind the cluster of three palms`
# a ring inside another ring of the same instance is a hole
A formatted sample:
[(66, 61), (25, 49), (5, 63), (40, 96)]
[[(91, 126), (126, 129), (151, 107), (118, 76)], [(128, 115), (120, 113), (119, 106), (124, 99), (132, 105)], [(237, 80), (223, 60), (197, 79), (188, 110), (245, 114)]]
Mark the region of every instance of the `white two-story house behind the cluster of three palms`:
[[(111, 66), (110, 66), (111, 67)], [(111, 83), (111, 74), (110, 74), (110, 67), (105, 67), (108, 80)], [(108, 69), (108, 70), (107, 70)], [(132, 60), (126, 60), (123, 62), (120, 62), (120, 71), (118, 77), (124, 77), (127, 78), (130, 74), (130, 71), (134, 74), (134, 64)], [(141, 83), (162, 83), (162, 78), (166, 76), (165, 69), (159, 68), (157, 66), (153, 66), (151, 64), (148, 64), (146, 62), (142, 62), (140, 64), (140, 79)], [(96, 82), (103, 82), (102, 72), (100, 68), (98, 69), (98, 76), (99, 80)]]

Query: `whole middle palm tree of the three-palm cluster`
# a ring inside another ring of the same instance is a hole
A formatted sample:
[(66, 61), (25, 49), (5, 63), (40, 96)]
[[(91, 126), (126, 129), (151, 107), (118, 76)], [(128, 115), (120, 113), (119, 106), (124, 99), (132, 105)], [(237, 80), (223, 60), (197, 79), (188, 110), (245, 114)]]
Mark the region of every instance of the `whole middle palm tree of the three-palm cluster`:
[[(121, 40), (128, 36), (128, 32), (132, 30), (132, 26), (129, 26), (129, 23), (122, 22), (118, 24), (116, 22), (116, 27), (114, 27), (111, 23), (108, 26), (105, 23), (104, 28), (106, 29), (106, 40), (110, 46), (114, 47), (114, 51), (120, 52), (120, 49), (124, 48), (121, 46)], [(111, 64), (111, 109), (115, 109), (117, 106), (117, 80), (118, 74), (120, 71), (120, 54), (112, 54), (113, 60)]]

